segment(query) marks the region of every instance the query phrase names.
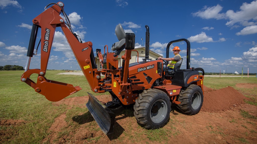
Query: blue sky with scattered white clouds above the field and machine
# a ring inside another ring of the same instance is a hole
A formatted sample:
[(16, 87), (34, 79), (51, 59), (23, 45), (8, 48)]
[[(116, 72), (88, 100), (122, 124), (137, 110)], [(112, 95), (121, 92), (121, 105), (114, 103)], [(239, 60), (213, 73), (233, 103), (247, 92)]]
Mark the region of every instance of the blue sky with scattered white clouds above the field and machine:
[[(49, 3), (58, 1), (0, 0), (0, 65), (25, 68), (32, 19)], [(62, 1), (74, 31), (96, 49), (118, 39), (115, 26), (135, 33), (135, 46), (145, 46), (145, 25), (150, 29), (150, 50), (166, 57), (167, 44), (186, 38), (191, 44), (191, 67), (205, 72), (257, 72), (257, 1)], [(38, 34), (39, 36), (39, 34)], [(36, 45), (40, 37), (37, 38)], [(175, 43), (186, 59), (186, 43)], [(40, 48), (39, 48), (40, 49)], [(173, 53), (170, 52), (170, 57)], [(96, 53), (95, 53), (96, 56)], [(182, 67), (185, 68), (184, 60)], [(60, 28), (56, 29), (47, 69), (79, 67)], [(40, 68), (40, 50), (30, 68)], [(79, 68), (80, 69), (80, 68)]]

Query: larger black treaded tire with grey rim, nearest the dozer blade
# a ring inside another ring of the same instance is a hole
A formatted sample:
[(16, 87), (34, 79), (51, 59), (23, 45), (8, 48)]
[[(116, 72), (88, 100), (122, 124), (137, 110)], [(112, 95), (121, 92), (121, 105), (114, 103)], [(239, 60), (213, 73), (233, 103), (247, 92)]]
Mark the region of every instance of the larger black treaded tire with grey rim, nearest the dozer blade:
[(170, 117), (170, 111), (169, 97), (158, 89), (144, 90), (135, 100), (134, 116), (138, 124), (147, 129), (163, 127)]

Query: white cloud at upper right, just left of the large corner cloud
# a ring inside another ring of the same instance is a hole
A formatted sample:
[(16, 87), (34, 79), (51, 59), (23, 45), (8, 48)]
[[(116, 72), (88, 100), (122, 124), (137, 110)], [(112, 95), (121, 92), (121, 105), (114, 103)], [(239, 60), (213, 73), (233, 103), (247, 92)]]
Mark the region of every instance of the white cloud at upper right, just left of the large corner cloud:
[(222, 6), (216, 5), (213, 7), (207, 7), (205, 6), (202, 10), (192, 13), (193, 16), (198, 16), (204, 19), (210, 19), (210, 18), (215, 18), (215, 19), (223, 19), (225, 18), (224, 13), (219, 13), (222, 10)]

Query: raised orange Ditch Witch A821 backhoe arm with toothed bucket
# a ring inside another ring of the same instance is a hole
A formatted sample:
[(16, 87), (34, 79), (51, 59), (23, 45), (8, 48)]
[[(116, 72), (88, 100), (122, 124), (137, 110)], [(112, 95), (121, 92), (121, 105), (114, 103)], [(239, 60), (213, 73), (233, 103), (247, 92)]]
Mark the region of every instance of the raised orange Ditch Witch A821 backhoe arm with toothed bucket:
[[(50, 101), (59, 101), (81, 90), (79, 86), (74, 87), (71, 84), (61, 83), (45, 78), (56, 27), (61, 27), (63, 30), (63, 33), (79, 63), (79, 66), (87, 78), (91, 90), (93, 90), (92, 87), (94, 84), (94, 75), (95, 71), (97, 70), (92, 51), (92, 43), (80, 43), (78, 38), (75, 37), (76, 34), (72, 32), (70, 24), (67, 24), (67, 26), (64, 19), (59, 16), (59, 14), (63, 11), (63, 6), (64, 5), (62, 2), (58, 2), (32, 20), (33, 28), (27, 52), (28, 60), (26, 63), (25, 72), (21, 77), (21, 81), (30, 85), (35, 89), (36, 92), (44, 95)], [(66, 19), (68, 18), (67, 16), (65, 17)], [(40, 69), (29, 69), (30, 59), (33, 57), (38, 28), (41, 28), (41, 66)], [(36, 83), (30, 79), (32, 74), (38, 74)]]

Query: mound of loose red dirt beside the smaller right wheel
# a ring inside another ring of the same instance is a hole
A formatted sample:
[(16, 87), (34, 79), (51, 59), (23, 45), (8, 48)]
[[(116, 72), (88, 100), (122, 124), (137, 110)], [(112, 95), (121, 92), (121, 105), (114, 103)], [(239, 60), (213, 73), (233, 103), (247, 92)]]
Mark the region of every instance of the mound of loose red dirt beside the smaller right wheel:
[(217, 112), (230, 110), (234, 106), (243, 104), (244, 99), (247, 98), (230, 86), (218, 90), (204, 87), (204, 102), (201, 111)]

